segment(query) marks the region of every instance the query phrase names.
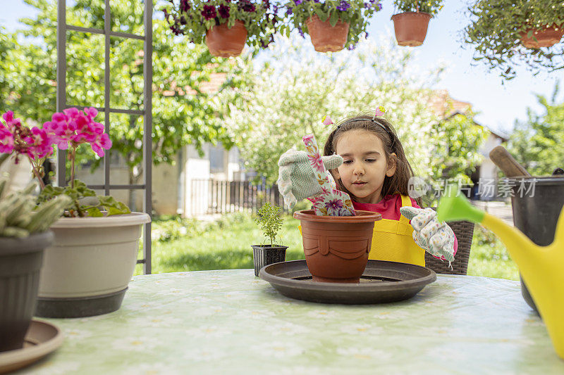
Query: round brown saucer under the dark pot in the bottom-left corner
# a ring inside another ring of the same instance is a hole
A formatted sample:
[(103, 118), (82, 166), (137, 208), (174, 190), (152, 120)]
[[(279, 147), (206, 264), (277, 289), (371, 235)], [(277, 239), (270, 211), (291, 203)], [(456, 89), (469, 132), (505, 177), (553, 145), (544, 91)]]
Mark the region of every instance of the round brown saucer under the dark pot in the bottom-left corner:
[(14, 371), (54, 352), (63, 343), (63, 333), (53, 324), (32, 320), (23, 348), (0, 352), (0, 374)]

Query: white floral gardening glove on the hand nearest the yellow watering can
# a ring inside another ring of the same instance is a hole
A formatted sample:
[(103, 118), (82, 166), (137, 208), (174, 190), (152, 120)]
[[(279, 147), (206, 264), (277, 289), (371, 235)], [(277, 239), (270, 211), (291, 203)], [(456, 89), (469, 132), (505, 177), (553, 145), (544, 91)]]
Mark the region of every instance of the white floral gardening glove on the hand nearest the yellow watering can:
[(436, 212), (432, 208), (400, 208), (401, 215), (411, 220), (413, 239), (419, 247), (427, 253), (441, 260), (452, 262), (456, 251), (454, 250), (455, 236), (453, 229), (436, 219)]

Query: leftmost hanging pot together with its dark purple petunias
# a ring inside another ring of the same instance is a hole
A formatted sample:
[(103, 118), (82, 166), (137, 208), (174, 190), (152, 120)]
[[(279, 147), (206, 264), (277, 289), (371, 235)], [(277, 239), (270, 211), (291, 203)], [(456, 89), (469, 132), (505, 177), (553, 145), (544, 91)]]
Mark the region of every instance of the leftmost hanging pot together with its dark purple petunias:
[(278, 6), (250, 0), (168, 0), (163, 11), (175, 35), (206, 42), (213, 56), (239, 56), (245, 44), (265, 49), (274, 41)]

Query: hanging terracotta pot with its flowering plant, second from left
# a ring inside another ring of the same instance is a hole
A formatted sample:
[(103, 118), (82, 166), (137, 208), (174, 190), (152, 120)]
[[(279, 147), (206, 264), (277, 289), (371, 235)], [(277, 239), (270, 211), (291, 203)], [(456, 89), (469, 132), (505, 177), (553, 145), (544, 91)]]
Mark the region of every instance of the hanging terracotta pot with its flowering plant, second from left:
[(376, 0), (291, 0), (284, 7), (292, 28), (309, 34), (318, 52), (355, 48), (363, 32), (368, 36), (368, 19), (382, 8)]

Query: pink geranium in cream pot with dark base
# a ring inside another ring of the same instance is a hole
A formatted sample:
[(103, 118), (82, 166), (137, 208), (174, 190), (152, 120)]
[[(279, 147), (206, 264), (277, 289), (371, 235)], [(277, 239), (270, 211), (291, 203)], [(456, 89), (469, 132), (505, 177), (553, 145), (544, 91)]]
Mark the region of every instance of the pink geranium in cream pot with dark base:
[(95, 108), (68, 108), (54, 113), (43, 127), (29, 129), (13, 113), (6, 113), (0, 147), (16, 160), (30, 158), (41, 179), (44, 158), (53, 146), (68, 150), (71, 179), (68, 186), (42, 186), (37, 203), (67, 196), (64, 216), (51, 225), (54, 244), (44, 253), (35, 314), (39, 317), (87, 317), (118, 310), (137, 262), (143, 212), (111, 196), (98, 196), (75, 179), (76, 150), (88, 144), (99, 157), (111, 147), (104, 125), (96, 122)]

